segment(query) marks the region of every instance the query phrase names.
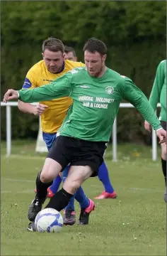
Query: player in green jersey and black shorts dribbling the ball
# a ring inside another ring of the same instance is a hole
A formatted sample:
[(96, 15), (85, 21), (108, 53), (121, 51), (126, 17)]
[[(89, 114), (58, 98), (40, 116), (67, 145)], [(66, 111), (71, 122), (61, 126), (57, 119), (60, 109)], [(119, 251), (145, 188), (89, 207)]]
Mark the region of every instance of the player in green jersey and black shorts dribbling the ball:
[[(123, 99), (131, 102), (152, 125), (160, 143), (166, 140), (166, 131), (146, 96), (132, 80), (105, 66), (106, 53), (105, 43), (91, 38), (84, 46), (86, 68), (75, 68), (50, 85), (32, 90), (11, 89), (4, 95), (4, 102), (19, 99), (31, 103), (67, 95), (73, 99), (57, 140), (36, 179), (35, 198), (42, 204), (50, 182), (64, 166), (71, 164), (63, 188), (50, 199), (46, 208), (62, 210), (87, 178), (97, 176), (98, 167), (103, 162), (105, 144), (110, 139), (113, 122)], [(32, 203), (28, 214), (35, 218), (38, 211)], [(29, 230), (35, 230), (34, 223), (29, 225)]]

